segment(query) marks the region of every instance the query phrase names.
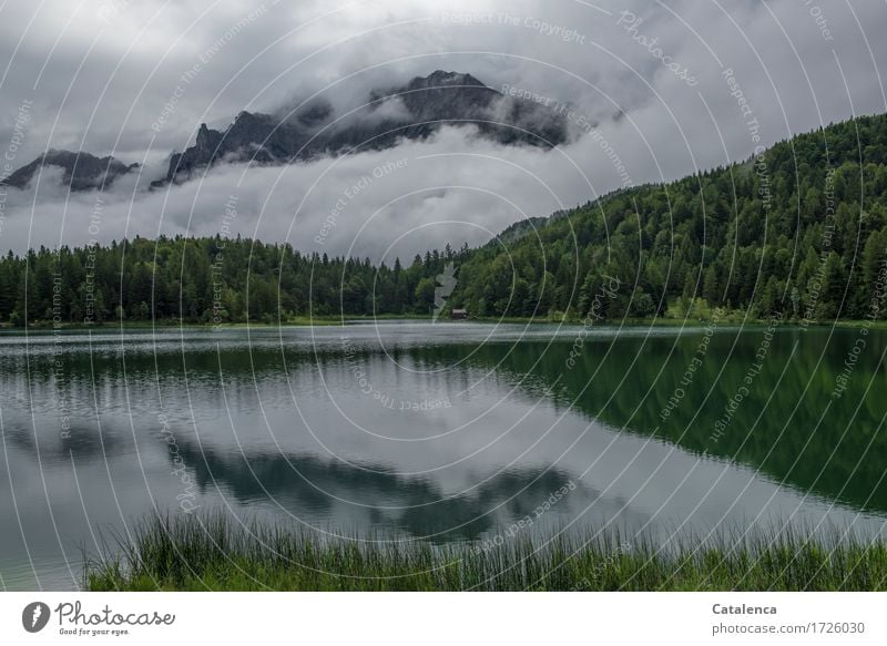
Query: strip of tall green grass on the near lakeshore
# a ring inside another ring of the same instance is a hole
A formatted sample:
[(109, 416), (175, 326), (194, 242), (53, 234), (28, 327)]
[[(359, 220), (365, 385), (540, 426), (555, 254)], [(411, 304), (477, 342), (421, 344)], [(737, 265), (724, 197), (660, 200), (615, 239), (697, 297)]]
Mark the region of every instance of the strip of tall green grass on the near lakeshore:
[(145, 521), (119, 558), (88, 561), (90, 591), (874, 591), (887, 588), (884, 543), (758, 536), (669, 555), (609, 535), (500, 546), (322, 542), (221, 516)]

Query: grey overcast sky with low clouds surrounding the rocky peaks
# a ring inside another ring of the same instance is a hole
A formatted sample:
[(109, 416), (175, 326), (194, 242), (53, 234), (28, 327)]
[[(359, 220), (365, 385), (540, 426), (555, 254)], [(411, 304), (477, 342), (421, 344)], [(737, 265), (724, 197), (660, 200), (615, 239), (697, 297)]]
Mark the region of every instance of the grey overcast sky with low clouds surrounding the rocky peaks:
[[(145, 166), (101, 202), (94, 192), (69, 195), (53, 172), (35, 188), (9, 191), (0, 248), (227, 229), (376, 259), (478, 244), (628, 183), (746, 158), (755, 135), (768, 145), (887, 111), (885, 32), (881, 0), (9, 1), (0, 10), (0, 147), (11, 166), (48, 148)], [(146, 189), (202, 122), (224, 129), (242, 110), (315, 94), (360, 102), (373, 88), (437, 69), (570, 104), (581, 136), (546, 152), (448, 129), (385, 152), (225, 165)], [(324, 227), (337, 203), (335, 226)]]

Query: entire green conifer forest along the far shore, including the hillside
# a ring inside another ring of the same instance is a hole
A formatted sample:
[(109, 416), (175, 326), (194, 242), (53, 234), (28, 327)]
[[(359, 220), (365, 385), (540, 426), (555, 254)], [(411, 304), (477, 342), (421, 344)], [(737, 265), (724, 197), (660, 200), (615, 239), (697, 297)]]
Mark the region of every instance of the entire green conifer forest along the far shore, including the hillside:
[(411, 262), (251, 239), (135, 238), (0, 260), (0, 321), (276, 322), (305, 316), (884, 318), (887, 116), (795, 136), (744, 163), (611, 193), (489, 244)]

